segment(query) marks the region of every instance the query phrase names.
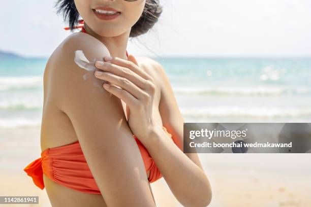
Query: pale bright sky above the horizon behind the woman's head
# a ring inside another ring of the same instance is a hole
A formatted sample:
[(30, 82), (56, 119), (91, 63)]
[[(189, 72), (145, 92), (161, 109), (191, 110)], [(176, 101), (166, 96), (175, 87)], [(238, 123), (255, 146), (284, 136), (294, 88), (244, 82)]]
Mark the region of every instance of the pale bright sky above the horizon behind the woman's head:
[[(56, 0), (2, 1), (0, 50), (48, 57), (70, 34)], [(158, 23), (129, 40), (144, 56), (311, 56), (310, 0), (160, 0)], [(77, 30), (78, 31), (78, 30)]]

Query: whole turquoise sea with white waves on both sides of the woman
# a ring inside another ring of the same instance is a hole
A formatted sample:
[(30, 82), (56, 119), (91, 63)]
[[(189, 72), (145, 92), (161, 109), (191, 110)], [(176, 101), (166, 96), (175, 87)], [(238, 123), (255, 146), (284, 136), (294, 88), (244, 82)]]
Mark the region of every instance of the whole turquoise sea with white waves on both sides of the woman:
[[(157, 58), (186, 122), (311, 120), (311, 58)], [(47, 58), (0, 59), (0, 127), (40, 126)]]

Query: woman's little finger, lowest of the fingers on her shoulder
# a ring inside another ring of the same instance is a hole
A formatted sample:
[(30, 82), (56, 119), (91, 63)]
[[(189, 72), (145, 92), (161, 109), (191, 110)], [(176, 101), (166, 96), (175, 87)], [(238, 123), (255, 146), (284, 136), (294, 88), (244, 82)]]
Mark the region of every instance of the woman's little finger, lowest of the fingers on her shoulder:
[[(108, 87), (105, 87), (108, 86)], [(126, 102), (127, 107), (129, 106), (130, 110), (135, 109), (135, 106), (137, 105), (137, 102), (139, 101), (136, 99), (132, 94), (130, 94), (128, 91), (123, 90), (121, 88), (117, 88), (115, 86), (112, 86), (110, 84), (104, 83), (103, 87), (116, 97), (122, 99), (124, 102)], [(129, 116), (128, 116), (129, 117)]]

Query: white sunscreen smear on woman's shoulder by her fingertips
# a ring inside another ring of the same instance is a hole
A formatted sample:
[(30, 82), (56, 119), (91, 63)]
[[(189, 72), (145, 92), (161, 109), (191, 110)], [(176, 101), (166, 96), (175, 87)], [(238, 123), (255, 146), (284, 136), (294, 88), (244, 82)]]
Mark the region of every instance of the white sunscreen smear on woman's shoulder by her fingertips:
[[(76, 51), (75, 51), (75, 58), (74, 58), (74, 61), (75, 61), (75, 63), (76, 63), (79, 67), (83, 68), (84, 70), (86, 70), (86, 71), (88, 72), (88, 73), (86, 73), (86, 74), (83, 75), (83, 79), (86, 80), (86, 79), (87, 79), (87, 76), (92, 76), (92, 77), (94, 78), (93, 85), (94, 85), (95, 87), (100, 88), (100, 91), (101, 91), (101, 92), (104, 92), (105, 90), (103, 89), (102, 85), (103, 85), (104, 83), (106, 83), (107, 81), (100, 80), (100, 79), (98, 79), (98, 78), (96, 78), (96, 77), (94, 76), (94, 73), (95, 73), (95, 71), (97, 70), (97, 67), (95, 66), (96, 59), (94, 59), (94, 60), (92, 60), (92, 61), (89, 61), (89, 60), (85, 57), (85, 55), (84, 55), (84, 53), (83, 53), (82, 50), (76, 50)], [(91, 72), (91, 73), (89, 73), (89, 72)], [(101, 84), (100, 84), (99, 82), (100, 82)], [(110, 93), (110, 95), (111, 95), (111, 93)]]

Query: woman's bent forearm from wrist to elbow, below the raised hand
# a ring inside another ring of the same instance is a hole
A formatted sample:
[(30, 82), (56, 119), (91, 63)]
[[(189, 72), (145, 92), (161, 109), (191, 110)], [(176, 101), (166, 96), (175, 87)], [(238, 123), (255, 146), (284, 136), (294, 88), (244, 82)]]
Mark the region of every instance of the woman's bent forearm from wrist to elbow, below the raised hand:
[(204, 171), (187, 157), (169, 136), (156, 126), (143, 141), (178, 201), (184, 206), (206, 206), (211, 199)]

